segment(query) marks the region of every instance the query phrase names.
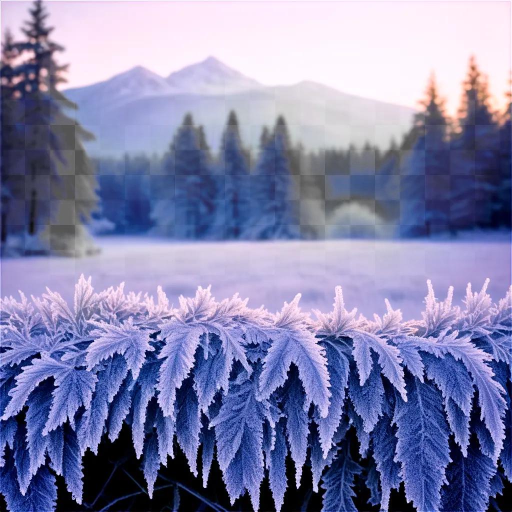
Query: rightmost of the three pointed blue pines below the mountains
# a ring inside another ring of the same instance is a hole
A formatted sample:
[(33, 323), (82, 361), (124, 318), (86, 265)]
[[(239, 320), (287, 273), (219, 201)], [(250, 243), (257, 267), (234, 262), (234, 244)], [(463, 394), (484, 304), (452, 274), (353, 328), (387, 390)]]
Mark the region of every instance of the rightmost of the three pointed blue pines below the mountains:
[(251, 176), (250, 238), (290, 239), (300, 236), (289, 147), (286, 122), (279, 116)]

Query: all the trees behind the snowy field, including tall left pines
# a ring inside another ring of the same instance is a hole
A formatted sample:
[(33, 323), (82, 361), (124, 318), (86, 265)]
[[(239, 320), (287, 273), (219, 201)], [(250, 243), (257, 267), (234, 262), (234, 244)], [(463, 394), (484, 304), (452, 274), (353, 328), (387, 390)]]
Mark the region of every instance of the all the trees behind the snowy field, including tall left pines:
[(34, 2), (24, 36), (6, 31), (2, 45), (3, 251), (90, 253), (88, 229), (257, 240), (510, 228), (510, 93), (494, 112), (473, 58), (457, 117), (432, 78), (410, 132), (386, 151), (306, 151), (283, 117), (249, 151), (231, 112), (216, 154), (187, 115), (163, 156), (93, 160), (94, 136), (59, 91), (67, 67), (47, 17)]

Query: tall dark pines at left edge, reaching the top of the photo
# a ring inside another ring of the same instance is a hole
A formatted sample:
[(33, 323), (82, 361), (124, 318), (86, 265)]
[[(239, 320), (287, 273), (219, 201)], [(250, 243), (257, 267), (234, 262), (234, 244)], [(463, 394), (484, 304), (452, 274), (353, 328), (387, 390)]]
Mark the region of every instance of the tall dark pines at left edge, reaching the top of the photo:
[[(96, 206), (96, 174), (83, 142), (93, 136), (57, 86), (67, 66), (40, 0), (29, 10), (24, 40), (2, 49), (2, 240), (18, 252), (81, 255), (94, 251), (83, 224)], [(12, 237), (9, 239), (9, 236)]]

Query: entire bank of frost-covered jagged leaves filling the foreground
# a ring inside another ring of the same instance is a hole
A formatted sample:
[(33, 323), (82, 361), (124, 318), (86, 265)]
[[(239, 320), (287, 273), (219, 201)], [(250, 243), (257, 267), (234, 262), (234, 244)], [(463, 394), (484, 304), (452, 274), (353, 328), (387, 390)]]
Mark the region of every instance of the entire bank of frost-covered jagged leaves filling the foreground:
[(266, 477), (282, 509), (288, 455), (297, 487), (322, 480), (326, 512), (356, 510), (365, 482), (381, 509), (403, 482), (420, 511), (484, 510), (512, 479), (511, 294), (493, 304), (487, 285), (459, 308), (429, 282), (417, 322), (388, 301), (357, 317), (340, 287), (316, 319), (300, 295), (272, 314), (199, 287), (175, 309), (161, 288), (97, 293), (83, 276), (72, 307), (6, 297), (0, 490), (12, 511), (54, 510), (61, 477), (81, 503), (82, 456), (125, 424), (150, 496), (179, 446), (204, 486), (215, 458), (255, 510)]

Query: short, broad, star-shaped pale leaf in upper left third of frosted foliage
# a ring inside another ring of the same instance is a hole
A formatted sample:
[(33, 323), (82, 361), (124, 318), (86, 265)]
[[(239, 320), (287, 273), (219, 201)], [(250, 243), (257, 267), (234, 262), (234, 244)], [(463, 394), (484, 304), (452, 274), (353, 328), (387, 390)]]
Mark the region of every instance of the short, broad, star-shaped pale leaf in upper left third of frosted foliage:
[(88, 369), (92, 370), (100, 361), (120, 354), (126, 359), (126, 364), (136, 379), (144, 364), (146, 352), (155, 350), (150, 345), (150, 332), (134, 325), (132, 317), (120, 325), (105, 322), (97, 322), (95, 325), (98, 328), (90, 333), (94, 342), (87, 349)]

